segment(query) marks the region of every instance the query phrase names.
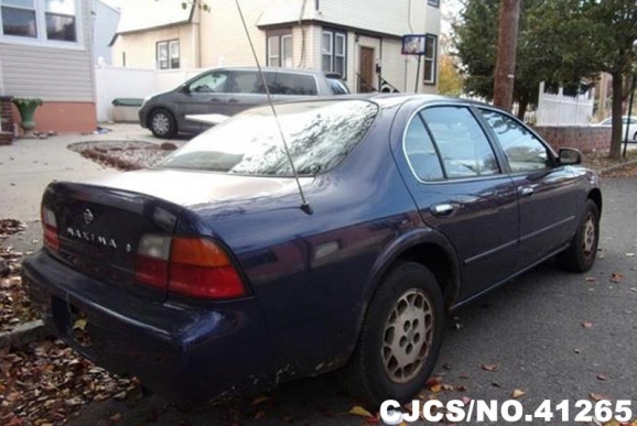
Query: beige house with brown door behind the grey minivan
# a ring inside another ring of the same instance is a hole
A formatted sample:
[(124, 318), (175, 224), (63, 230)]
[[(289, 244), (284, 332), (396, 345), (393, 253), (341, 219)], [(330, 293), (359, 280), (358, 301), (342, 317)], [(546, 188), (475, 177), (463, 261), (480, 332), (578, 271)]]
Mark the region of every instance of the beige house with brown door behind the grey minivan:
[[(235, 1), (204, 3), (208, 11), (191, 2), (182, 8), (177, 0), (126, 2), (112, 64), (156, 69), (255, 65)], [(262, 65), (338, 73), (354, 91), (436, 91), (440, 0), (239, 3)], [(427, 54), (402, 55), (406, 34), (424, 34)]]

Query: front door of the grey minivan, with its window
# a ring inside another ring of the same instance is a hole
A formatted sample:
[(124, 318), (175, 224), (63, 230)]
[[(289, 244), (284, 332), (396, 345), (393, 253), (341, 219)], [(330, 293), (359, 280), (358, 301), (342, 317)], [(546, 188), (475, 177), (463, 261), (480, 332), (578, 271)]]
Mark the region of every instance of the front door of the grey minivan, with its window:
[[(198, 76), (184, 86), (184, 90), (179, 91), (175, 103), (179, 106), (180, 119), (183, 124), (192, 128), (199, 127), (186, 116), (198, 116), (208, 113), (224, 113), (223, 107), (227, 102), (229, 73), (226, 70), (215, 70)], [(183, 127), (180, 123), (180, 129)], [(201, 129), (203, 130), (203, 129)]]

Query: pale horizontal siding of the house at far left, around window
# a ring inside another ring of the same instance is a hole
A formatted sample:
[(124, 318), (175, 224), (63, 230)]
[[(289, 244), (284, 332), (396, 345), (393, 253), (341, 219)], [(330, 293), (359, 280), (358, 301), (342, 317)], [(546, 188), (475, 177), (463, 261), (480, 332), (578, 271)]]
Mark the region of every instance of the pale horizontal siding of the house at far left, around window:
[(82, 0), (80, 48), (11, 44), (0, 37), (2, 91), (48, 101), (94, 101), (90, 1)]

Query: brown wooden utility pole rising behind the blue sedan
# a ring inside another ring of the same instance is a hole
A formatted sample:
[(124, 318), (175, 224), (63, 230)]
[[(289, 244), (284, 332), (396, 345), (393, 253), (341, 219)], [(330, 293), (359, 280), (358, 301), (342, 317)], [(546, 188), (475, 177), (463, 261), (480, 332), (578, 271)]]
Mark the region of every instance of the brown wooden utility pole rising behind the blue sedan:
[(511, 110), (514, 99), (520, 2), (521, 0), (500, 1), (494, 103), (507, 111)]

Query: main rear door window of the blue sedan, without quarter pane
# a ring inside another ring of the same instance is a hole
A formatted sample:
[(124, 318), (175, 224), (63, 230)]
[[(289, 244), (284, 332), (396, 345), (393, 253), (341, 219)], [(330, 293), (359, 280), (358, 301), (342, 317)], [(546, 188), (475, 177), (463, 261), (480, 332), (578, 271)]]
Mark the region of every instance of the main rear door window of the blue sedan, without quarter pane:
[(467, 108), (427, 108), (421, 117), (433, 136), (446, 177), (479, 177), (500, 172), (485, 132)]

